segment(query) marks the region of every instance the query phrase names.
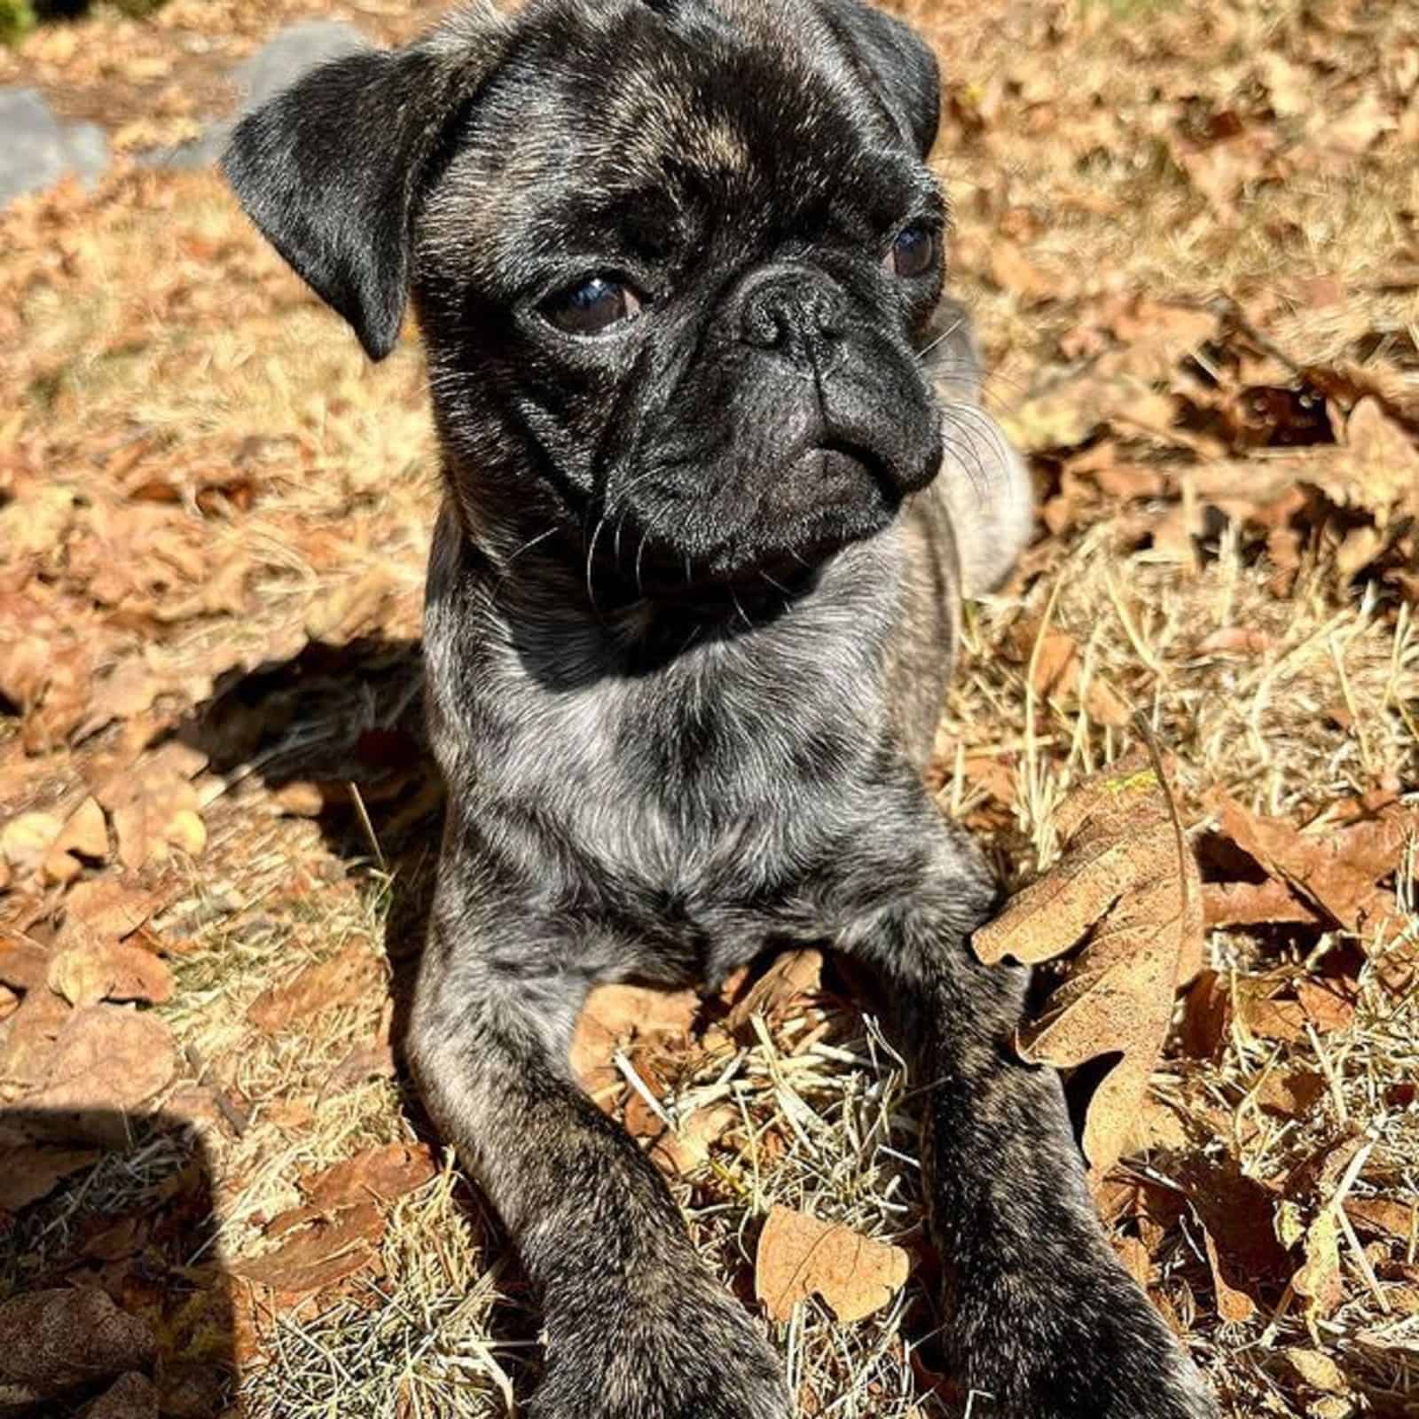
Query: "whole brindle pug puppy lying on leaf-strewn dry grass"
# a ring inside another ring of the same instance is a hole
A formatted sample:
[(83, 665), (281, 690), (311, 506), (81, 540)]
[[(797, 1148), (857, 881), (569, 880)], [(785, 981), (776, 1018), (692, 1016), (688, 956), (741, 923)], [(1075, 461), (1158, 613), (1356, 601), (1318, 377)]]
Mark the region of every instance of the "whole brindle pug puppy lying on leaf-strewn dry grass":
[[(1112, 1259), (1057, 1077), (1012, 1053), (1026, 973), (972, 956), (995, 885), (920, 778), (961, 596), (1029, 528), (939, 257), (894, 265), (944, 220), (937, 105), (858, 0), (531, 0), (326, 65), (226, 159), (372, 356), (410, 292), (427, 345), (448, 822), (409, 1047), (541, 1294), (542, 1419), (789, 1413), (568, 1046), (599, 982), (809, 941), (876, 972), (929, 1086), (972, 1412), (1215, 1415)], [(644, 309), (566, 333), (593, 272)]]

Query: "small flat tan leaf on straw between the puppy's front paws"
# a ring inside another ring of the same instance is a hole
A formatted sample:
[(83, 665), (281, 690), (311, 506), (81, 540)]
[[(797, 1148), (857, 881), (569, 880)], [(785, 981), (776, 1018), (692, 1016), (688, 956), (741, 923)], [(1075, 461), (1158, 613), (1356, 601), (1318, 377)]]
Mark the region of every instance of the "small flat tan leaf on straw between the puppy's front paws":
[(776, 1321), (817, 1293), (840, 1321), (880, 1311), (907, 1284), (910, 1260), (898, 1246), (803, 1212), (769, 1210), (753, 1261), (753, 1294)]

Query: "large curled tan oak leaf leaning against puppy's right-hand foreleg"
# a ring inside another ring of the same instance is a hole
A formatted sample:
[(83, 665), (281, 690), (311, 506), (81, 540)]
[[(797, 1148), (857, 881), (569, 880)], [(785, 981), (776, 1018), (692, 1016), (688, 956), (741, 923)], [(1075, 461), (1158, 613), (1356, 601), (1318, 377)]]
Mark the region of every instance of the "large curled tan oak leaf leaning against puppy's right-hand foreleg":
[(1200, 964), (1200, 893), (1151, 768), (1115, 765), (1080, 785), (1056, 826), (1066, 843), (1060, 861), (978, 931), (973, 946), (988, 964), (1009, 955), (1033, 965), (1088, 934), (1064, 982), (1020, 1029), (1017, 1047), (1026, 1060), (1061, 1069), (1118, 1054), (1084, 1122), (1097, 1181), (1139, 1112), (1176, 988)]

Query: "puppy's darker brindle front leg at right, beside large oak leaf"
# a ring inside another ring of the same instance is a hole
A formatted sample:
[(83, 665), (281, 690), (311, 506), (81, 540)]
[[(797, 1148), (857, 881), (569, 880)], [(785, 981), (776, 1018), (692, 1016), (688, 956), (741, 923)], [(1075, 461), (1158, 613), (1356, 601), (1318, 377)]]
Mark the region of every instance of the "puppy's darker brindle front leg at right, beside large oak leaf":
[(878, 975), (928, 1090), (944, 1337), (978, 1392), (971, 1413), (1215, 1419), (1200, 1375), (1108, 1246), (1059, 1076), (1015, 1054), (1027, 972), (971, 952), (971, 931), (993, 910), (979, 854), (939, 820), (922, 826), (921, 839), (902, 840), (934, 846), (910, 868), (877, 864), (846, 884), (877, 901), (841, 945)]

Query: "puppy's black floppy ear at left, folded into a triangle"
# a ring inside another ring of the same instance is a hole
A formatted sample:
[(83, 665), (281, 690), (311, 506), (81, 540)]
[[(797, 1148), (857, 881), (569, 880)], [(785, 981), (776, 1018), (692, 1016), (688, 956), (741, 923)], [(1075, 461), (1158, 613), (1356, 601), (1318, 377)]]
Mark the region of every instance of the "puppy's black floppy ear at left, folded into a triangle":
[(495, 21), (460, 21), (312, 70), (248, 114), (221, 159), (247, 214), (370, 359), (399, 339), (414, 211), (441, 140), (492, 68)]

